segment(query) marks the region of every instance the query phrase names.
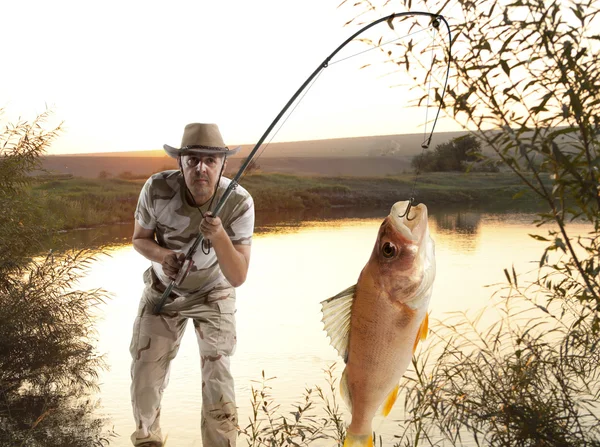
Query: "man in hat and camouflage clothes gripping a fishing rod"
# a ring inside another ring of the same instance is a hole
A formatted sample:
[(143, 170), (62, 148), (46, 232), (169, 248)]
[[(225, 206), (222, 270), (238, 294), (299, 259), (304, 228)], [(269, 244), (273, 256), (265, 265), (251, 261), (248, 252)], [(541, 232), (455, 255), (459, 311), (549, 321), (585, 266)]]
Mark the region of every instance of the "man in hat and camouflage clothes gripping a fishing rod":
[[(131, 401), (136, 446), (161, 447), (160, 402), (169, 364), (179, 349), (188, 319), (196, 331), (202, 369), (202, 442), (205, 447), (235, 446), (237, 411), (230, 356), (235, 350), (235, 289), (246, 279), (254, 230), (254, 204), (238, 186), (218, 217), (210, 208), (230, 180), (222, 177), (230, 150), (215, 124), (188, 124), (181, 148), (165, 145), (179, 171), (151, 176), (135, 211), (133, 246), (152, 261), (131, 341)], [(185, 253), (198, 233), (204, 243), (189, 274), (173, 288), (159, 315), (163, 291), (177, 277)]]

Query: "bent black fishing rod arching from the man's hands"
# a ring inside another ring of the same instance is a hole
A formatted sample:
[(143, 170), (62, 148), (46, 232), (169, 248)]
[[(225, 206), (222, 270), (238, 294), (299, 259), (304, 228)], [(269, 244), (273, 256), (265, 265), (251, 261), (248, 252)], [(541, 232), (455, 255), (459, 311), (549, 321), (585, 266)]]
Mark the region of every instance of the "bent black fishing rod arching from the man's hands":
[[(240, 166), (240, 169), (238, 170), (237, 174), (235, 175), (235, 177), (233, 179), (231, 179), (231, 182), (229, 183), (229, 185), (227, 186), (227, 189), (225, 190), (225, 192), (223, 193), (223, 195), (221, 196), (221, 198), (219, 199), (219, 201), (217, 202), (217, 205), (215, 206), (215, 209), (213, 210), (213, 216), (216, 217), (219, 215), (219, 212), (221, 211), (221, 208), (223, 208), (223, 205), (225, 204), (225, 202), (227, 201), (227, 199), (229, 198), (229, 196), (231, 195), (231, 193), (233, 192), (233, 190), (235, 188), (237, 188), (237, 186), (239, 185), (239, 180), (241, 178), (241, 176), (243, 175), (244, 171), (246, 170), (246, 168), (250, 165), (250, 162), (252, 161), (252, 159), (254, 158), (254, 156), (256, 155), (256, 153), (258, 152), (258, 149), (261, 147), (261, 145), (263, 144), (263, 142), (265, 141), (265, 139), (267, 138), (267, 136), (269, 135), (269, 133), (271, 133), (271, 131), (273, 130), (273, 128), (277, 125), (277, 123), (279, 122), (279, 120), (281, 119), (281, 117), (285, 114), (285, 112), (287, 112), (287, 110), (290, 108), (290, 106), (294, 103), (294, 101), (296, 101), (296, 99), (298, 98), (298, 96), (300, 96), (300, 94), (302, 93), (302, 91), (313, 81), (313, 79), (315, 79), (315, 77), (325, 68), (327, 68), (329, 66), (329, 63), (331, 61), (331, 59), (342, 49), (344, 48), (348, 43), (350, 43), (351, 41), (353, 41), (356, 37), (358, 37), (359, 35), (361, 35), (363, 32), (365, 32), (366, 30), (374, 27), (375, 25), (378, 25), (379, 23), (382, 22), (388, 22), (389, 26), (393, 29), (393, 26), (391, 25), (392, 20), (398, 18), (398, 17), (407, 17), (407, 16), (426, 16), (426, 17), (431, 17), (433, 25), (435, 28), (439, 27), (439, 21), (443, 21), (444, 24), (446, 25), (446, 28), (448, 30), (448, 37), (449, 37), (449, 41), (450, 44), (452, 43), (452, 38), (450, 36), (450, 25), (448, 24), (448, 22), (446, 21), (446, 19), (444, 18), (444, 16), (439, 15), (439, 14), (433, 14), (430, 12), (421, 12), (421, 11), (408, 11), (408, 12), (398, 12), (398, 13), (392, 13), (388, 16), (382, 17), (380, 19), (377, 19), (371, 23), (369, 23), (368, 25), (364, 26), (363, 28), (361, 28), (360, 30), (358, 30), (357, 32), (355, 32), (352, 36), (350, 36), (349, 38), (347, 38), (340, 46), (338, 46), (329, 56), (327, 56), (325, 58), (325, 60), (323, 60), (323, 62), (321, 62), (321, 64), (319, 64), (319, 66), (315, 69), (315, 71), (313, 71), (311, 73), (311, 75), (306, 79), (306, 81), (304, 81), (304, 83), (300, 86), (300, 88), (296, 91), (296, 93), (294, 93), (292, 95), (292, 97), (290, 98), (290, 100), (285, 104), (285, 106), (283, 107), (283, 109), (281, 109), (281, 111), (277, 114), (277, 116), (275, 117), (275, 119), (273, 120), (273, 122), (269, 125), (269, 127), (267, 128), (267, 130), (265, 131), (265, 133), (263, 133), (263, 135), (259, 138), (258, 142), (256, 143), (256, 145), (254, 146), (254, 148), (252, 149), (252, 151), (250, 152), (250, 154), (248, 155), (248, 157), (246, 158), (246, 160), (244, 161), (244, 163)], [(448, 64), (450, 64), (449, 58), (448, 58)], [(446, 90), (446, 86), (448, 83), (448, 72), (449, 70), (446, 72), (446, 82), (444, 84), (444, 92)], [(442, 92), (442, 98), (444, 97), (444, 92)], [(426, 147), (429, 146), (429, 142), (431, 141), (431, 136), (433, 135), (433, 130), (435, 128), (435, 124), (437, 122), (439, 113), (441, 110), (441, 104), (438, 108), (432, 129), (431, 129), (431, 133), (429, 135), (429, 138), (426, 140), (426, 142), (423, 143), (423, 148), (425, 149)], [(171, 292), (173, 291), (173, 287), (174, 286), (178, 286), (182, 283), (182, 281), (185, 279), (185, 277), (188, 275), (191, 267), (192, 267), (192, 257), (196, 251), (196, 249), (198, 248), (198, 246), (204, 241), (204, 235), (202, 233), (199, 233), (198, 236), (196, 237), (196, 239), (194, 240), (193, 244), (190, 246), (185, 259), (183, 261), (183, 265), (181, 266), (181, 268), (179, 269), (179, 272), (177, 274), (177, 277), (174, 280), (171, 280), (170, 284), (167, 286), (167, 288), (165, 289), (165, 291), (163, 292), (160, 301), (156, 304), (156, 306), (154, 307), (154, 314), (158, 315), (160, 313), (160, 311), (162, 310), (162, 307), (164, 306), (164, 304), (166, 303), (169, 295), (171, 294)]]

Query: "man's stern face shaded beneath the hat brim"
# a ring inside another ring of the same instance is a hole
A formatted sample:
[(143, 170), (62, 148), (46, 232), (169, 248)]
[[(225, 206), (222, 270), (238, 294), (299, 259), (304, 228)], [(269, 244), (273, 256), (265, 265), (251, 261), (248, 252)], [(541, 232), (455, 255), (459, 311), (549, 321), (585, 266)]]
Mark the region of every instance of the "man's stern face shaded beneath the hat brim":
[(223, 163), (226, 163), (223, 155), (183, 155), (181, 157), (185, 183), (198, 205), (205, 203), (213, 195)]

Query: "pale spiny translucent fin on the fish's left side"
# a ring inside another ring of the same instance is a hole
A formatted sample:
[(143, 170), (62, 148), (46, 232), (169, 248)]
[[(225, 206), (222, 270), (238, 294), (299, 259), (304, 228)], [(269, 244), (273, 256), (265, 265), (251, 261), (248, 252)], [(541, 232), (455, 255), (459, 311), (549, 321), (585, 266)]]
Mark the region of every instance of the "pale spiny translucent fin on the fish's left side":
[(350, 315), (356, 285), (348, 287), (343, 292), (321, 302), (323, 324), (338, 354), (348, 362), (348, 337), (350, 334)]

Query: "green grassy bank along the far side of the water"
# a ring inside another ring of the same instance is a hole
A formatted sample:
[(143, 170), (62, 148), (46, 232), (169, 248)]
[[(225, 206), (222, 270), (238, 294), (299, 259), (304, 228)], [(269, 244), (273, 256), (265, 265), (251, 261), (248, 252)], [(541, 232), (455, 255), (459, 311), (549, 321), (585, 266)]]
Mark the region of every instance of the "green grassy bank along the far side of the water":
[[(57, 230), (131, 222), (145, 179), (57, 178), (31, 185), (41, 215)], [(387, 207), (410, 197), (414, 175), (393, 177), (308, 177), (253, 174), (242, 178), (256, 210), (285, 211), (330, 207)], [(510, 173), (426, 173), (415, 199), (426, 204), (458, 204), (534, 211), (536, 197), (522, 191)]]

